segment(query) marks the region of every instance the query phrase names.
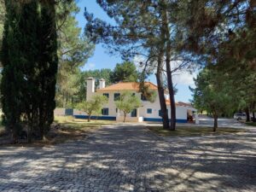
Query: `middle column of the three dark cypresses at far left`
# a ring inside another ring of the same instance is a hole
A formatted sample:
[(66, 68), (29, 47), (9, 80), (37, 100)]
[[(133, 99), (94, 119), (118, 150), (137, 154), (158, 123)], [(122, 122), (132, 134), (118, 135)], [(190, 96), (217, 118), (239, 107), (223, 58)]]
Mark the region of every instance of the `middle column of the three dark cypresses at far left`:
[(38, 2), (31, 1), (21, 4), (19, 31), (20, 70), (23, 73), (22, 103), (24, 104), (23, 121), (27, 125), (28, 141), (32, 140), (32, 133), (37, 135), (38, 129)]

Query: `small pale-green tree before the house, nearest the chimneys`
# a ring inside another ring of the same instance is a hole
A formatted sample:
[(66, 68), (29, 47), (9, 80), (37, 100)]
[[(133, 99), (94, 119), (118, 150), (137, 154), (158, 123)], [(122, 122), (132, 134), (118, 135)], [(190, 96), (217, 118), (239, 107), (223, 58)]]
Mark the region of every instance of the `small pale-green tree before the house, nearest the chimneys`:
[(96, 95), (92, 96), (89, 101), (80, 102), (77, 104), (77, 108), (84, 111), (88, 115), (88, 121), (90, 121), (91, 115), (99, 115), (102, 113), (102, 107), (108, 102), (108, 97)]

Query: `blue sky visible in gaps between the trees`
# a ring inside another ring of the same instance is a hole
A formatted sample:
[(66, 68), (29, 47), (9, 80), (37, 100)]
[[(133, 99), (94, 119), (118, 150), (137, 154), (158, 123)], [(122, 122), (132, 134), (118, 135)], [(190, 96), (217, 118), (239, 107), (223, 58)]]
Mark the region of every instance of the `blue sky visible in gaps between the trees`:
[[(78, 6), (80, 12), (76, 15), (76, 18), (79, 21), (79, 26), (83, 29), (86, 23), (86, 20), (84, 19), (85, 7), (90, 13), (93, 13), (94, 16), (102, 20), (107, 20), (108, 22), (112, 21), (96, 3), (96, 0), (79, 0)], [(104, 49), (101, 44), (97, 44), (94, 55), (92, 55), (85, 63), (84, 70), (101, 68), (113, 69), (118, 62), (122, 62), (119, 55), (108, 55), (108, 50)], [(150, 81), (153, 83), (156, 82), (154, 76), (150, 77)], [(177, 87), (177, 95), (175, 96), (176, 101), (189, 102), (189, 99), (192, 98), (189, 85), (193, 86), (193, 76), (189, 73), (180, 73), (174, 78), (174, 82)]]

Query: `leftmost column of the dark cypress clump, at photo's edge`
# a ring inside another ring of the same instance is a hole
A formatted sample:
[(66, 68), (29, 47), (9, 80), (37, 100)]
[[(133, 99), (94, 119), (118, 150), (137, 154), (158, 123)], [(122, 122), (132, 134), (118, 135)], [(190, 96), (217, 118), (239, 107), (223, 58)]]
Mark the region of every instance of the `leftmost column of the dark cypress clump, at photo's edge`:
[(6, 128), (12, 134), (14, 141), (22, 130), (20, 115), (23, 110), (21, 102), (21, 84), (23, 74), (20, 70), (20, 44), (21, 38), (18, 26), (19, 9), (18, 4), (12, 1), (5, 1), (6, 19), (4, 22), (3, 47), (1, 61), (3, 64), (3, 79), (1, 82), (1, 100), (3, 104), (3, 121)]

